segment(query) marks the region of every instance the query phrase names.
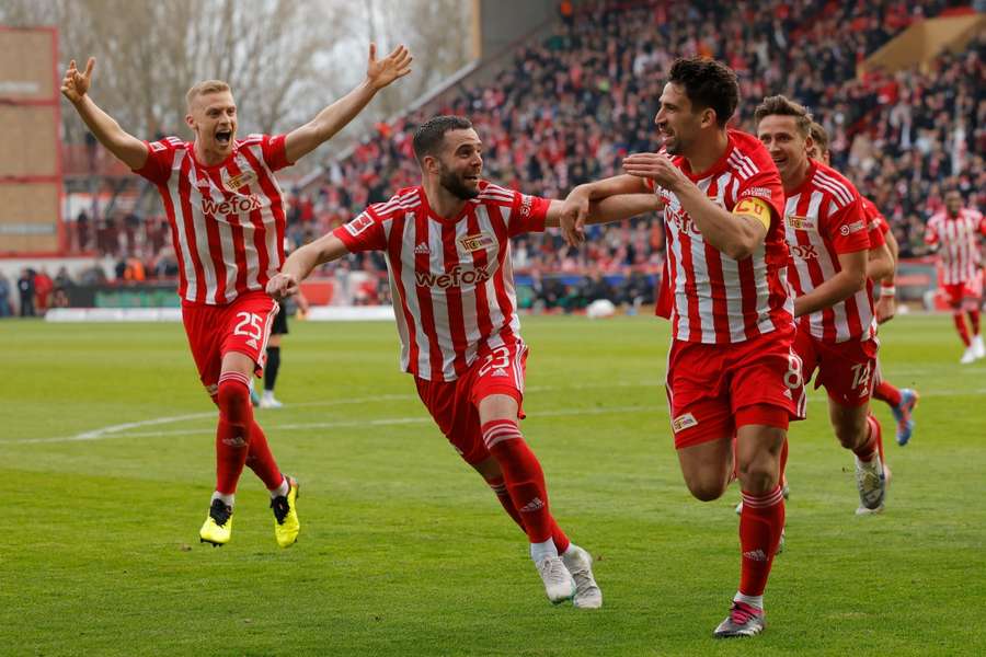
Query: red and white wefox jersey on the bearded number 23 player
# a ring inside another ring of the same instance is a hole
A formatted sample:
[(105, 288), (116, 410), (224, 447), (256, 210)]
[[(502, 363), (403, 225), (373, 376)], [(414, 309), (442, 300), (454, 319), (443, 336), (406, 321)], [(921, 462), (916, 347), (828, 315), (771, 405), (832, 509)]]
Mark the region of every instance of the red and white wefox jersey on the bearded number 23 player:
[(385, 252), (403, 371), (455, 381), (481, 351), (520, 342), (509, 239), (543, 231), (549, 204), (481, 182), (445, 219), (406, 187), (335, 229), (352, 253)]

